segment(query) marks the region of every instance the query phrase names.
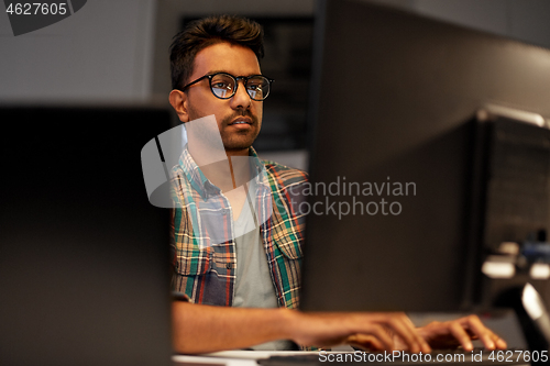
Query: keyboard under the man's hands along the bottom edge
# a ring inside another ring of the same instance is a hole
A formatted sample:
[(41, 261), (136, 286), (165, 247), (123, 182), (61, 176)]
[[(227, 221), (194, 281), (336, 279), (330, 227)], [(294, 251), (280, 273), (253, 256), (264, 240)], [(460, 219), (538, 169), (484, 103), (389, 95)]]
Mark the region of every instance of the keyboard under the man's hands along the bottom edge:
[(548, 363), (548, 352), (529, 352), (521, 348), (508, 348), (501, 351), (486, 351), (475, 348), (466, 352), (464, 350), (433, 351), (429, 354), (411, 354), (403, 351), (395, 352), (324, 352), (290, 356), (271, 356), (258, 359), (263, 366), (296, 366), (296, 365), (327, 365), (337, 363), (339, 365), (358, 365), (369, 363), (373, 365), (393, 366), (530, 366), (531, 362)]

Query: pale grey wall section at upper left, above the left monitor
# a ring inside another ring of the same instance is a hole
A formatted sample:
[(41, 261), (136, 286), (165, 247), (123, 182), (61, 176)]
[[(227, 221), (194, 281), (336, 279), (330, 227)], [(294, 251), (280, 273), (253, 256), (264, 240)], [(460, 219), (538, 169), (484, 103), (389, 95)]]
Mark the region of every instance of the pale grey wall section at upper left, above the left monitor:
[(13, 36), (0, 5), (0, 102), (142, 102), (152, 93), (155, 0), (94, 0)]

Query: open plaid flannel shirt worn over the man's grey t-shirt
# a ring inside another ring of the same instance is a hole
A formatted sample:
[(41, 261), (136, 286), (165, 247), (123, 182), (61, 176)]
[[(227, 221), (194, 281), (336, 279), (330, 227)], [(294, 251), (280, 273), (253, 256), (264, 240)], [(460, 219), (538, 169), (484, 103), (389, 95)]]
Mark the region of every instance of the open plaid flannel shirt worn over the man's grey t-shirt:
[[(256, 215), (279, 307), (298, 308), (305, 215), (299, 213), (306, 173), (257, 158)], [(172, 169), (173, 290), (189, 301), (232, 306), (237, 254), (229, 200), (201, 173), (187, 148)], [(212, 230), (215, 228), (215, 230)], [(216, 233), (215, 233), (216, 232)], [(215, 237), (215, 236), (223, 237)]]

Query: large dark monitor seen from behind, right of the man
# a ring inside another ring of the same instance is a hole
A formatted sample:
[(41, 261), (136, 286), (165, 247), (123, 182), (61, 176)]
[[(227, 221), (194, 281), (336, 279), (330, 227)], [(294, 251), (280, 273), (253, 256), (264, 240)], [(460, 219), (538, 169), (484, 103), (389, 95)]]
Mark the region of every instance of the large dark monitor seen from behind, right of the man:
[(300, 307), (472, 309), (491, 249), (472, 219), (485, 212), (472, 121), (486, 104), (550, 117), (550, 51), (327, 0), (314, 60)]

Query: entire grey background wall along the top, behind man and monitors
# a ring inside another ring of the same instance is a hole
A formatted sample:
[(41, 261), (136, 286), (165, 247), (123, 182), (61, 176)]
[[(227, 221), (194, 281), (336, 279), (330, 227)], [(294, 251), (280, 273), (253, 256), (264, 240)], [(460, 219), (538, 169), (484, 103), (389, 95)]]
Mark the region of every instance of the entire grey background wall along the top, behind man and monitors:
[[(376, 1), (550, 47), (547, 0)], [(18, 37), (0, 9), (0, 102), (165, 103), (168, 46), (183, 15), (311, 15), (315, 1), (94, 0)]]

